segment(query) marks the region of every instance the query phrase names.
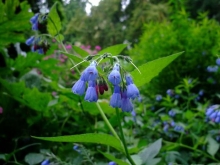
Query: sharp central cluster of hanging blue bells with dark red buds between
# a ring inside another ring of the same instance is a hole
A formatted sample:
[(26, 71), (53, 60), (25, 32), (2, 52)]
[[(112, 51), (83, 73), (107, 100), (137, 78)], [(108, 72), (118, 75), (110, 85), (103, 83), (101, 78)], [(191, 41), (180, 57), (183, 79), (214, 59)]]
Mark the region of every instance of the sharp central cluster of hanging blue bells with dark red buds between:
[[(108, 90), (108, 86), (104, 78), (98, 78), (96, 65), (97, 63), (93, 61), (83, 71), (80, 79), (72, 87), (73, 93), (83, 95), (86, 90), (86, 84), (88, 83), (84, 99), (89, 102), (97, 102), (98, 91), (102, 95), (104, 91)], [(99, 79), (98, 83), (97, 79)], [(113, 108), (121, 108), (123, 112), (132, 112), (134, 108), (131, 100), (140, 98), (140, 93), (136, 85), (133, 83), (131, 76), (128, 74), (121, 76), (120, 65), (119, 63), (116, 63), (108, 75), (108, 81), (113, 85), (113, 94), (110, 99), (110, 106)]]

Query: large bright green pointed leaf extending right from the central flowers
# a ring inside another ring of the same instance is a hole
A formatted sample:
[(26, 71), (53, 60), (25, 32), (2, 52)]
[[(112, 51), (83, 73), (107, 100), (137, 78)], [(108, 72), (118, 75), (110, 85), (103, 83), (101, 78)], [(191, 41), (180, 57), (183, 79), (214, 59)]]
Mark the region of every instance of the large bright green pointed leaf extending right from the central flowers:
[(183, 52), (179, 52), (167, 57), (159, 58), (138, 67), (141, 74), (137, 70), (132, 71), (131, 75), (136, 86), (142, 86), (145, 83), (150, 82), (152, 78), (156, 77), (167, 65), (179, 57), (182, 53)]

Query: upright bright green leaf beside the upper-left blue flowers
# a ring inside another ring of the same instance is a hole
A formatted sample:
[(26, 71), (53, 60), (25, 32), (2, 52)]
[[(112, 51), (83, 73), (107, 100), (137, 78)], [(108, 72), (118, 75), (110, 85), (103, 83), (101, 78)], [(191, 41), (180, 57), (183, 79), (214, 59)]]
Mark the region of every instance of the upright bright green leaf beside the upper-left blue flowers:
[(48, 15), (48, 23), (47, 23), (47, 30), (50, 35), (56, 36), (59, 34), (62, 26), (59, 14), (57, 12), (58, 3), (56, 2), (50, 9)]

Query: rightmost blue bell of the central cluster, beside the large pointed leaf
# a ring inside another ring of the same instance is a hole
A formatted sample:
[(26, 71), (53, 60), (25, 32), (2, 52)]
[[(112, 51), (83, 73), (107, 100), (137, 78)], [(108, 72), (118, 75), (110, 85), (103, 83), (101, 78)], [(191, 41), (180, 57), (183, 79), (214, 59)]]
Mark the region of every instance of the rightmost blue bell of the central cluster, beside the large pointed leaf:
[(127, 83), (127, 97), (132, 99), (139, 97), (140, 92), (136, 85), (134, 85), (132, 78), (127, 75), (125, 79)]

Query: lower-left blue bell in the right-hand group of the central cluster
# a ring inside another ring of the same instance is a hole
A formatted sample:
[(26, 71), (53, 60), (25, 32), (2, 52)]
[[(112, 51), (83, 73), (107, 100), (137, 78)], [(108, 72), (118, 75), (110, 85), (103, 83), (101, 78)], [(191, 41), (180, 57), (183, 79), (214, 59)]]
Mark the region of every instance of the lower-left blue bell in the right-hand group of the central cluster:
[(121, 108), (121, 88), (120, 86), (114, 86), (114, 92), (110, 99), (110, 106), (113, 108)]

